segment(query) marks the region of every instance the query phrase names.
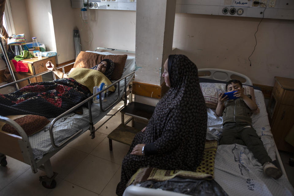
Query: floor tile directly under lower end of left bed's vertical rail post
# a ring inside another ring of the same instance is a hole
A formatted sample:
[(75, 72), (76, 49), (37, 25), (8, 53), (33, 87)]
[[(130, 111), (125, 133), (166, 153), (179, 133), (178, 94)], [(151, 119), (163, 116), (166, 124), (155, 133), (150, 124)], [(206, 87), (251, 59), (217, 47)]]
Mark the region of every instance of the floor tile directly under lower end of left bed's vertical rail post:
[(85, 133), (81, 134), (81, 136), (76, 138), (74, 141), (71, 141), (66, 146), (89, 154), (98, 144), (100, 144), (102, 140), (104, 140), (104, 138), (107, 137), (106, 134), (99, 133), (98, 131), (95, 132), (94, 139), (92, 139), (89, 135), (90, 131), (87, 130)]

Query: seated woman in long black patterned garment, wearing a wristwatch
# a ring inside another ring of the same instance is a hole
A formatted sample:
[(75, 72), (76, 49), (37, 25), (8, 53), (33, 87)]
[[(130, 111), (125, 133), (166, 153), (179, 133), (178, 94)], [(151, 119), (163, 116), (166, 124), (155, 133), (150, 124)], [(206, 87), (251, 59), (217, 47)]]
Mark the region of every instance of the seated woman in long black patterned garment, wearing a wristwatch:
[(202, 160), (207, 111), (197, 67), (184, 55), (169, 55), (162, 77), (170, 89), (124, 157), (117, 195), (141, 167), (194, 171)]

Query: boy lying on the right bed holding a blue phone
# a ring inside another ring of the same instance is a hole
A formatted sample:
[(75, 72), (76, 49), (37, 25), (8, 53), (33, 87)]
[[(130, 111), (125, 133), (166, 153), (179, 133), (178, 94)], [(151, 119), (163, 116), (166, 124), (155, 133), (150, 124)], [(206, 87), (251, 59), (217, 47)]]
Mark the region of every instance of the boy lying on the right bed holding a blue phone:
[(223, 133), (219, 145), (240, 144), (246, 145), (254, 157), (263, 165), (266, 175), (278, 179), (281, 171), (272, 164), (261, 139), (252, 127), (251, 111), (258, 109), (251, 95), (244, 94), (244, 88), (239, 80), (230, 80), (226, 84), (226, 91), (234, 92), (234, 97), (239, 99), (228, 100), (228, 96), (220, 93), (216, 108), (217, 116), (223, 116)]

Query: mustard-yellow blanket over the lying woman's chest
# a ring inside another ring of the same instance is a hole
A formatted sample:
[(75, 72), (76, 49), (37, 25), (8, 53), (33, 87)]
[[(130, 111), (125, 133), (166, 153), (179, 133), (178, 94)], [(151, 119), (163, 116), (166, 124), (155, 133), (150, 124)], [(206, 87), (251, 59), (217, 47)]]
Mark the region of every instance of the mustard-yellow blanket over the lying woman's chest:
[[(111, 85), (111, 81), (100, 71), (88, 68), (76, 67), (70, 71), (68, 77), (75, 79), (78, 83), (85, 85), (93, 93), (94, 86), (100, 86), (102, 82), (105, 85)], [(114, 86), (108, 89), (115, 91)]]

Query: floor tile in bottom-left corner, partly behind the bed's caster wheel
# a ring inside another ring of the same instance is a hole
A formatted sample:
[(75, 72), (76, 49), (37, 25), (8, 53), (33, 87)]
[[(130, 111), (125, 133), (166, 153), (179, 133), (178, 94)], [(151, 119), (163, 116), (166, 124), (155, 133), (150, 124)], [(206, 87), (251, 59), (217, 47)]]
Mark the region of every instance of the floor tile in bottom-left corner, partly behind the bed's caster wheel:
[[(40, 171), (40, 170), (39, 170)], [(45, 196), (48, 195), (53, 189), (47, 189), (42, 186), (42, 183), (39, 181), (40, 172), (34, 174), (31, 169), (28, 169), (15, 179), (12, 183), (6, 186), (0, 191), (0, 196)], [(62, 179), (55, 178), (58, 187), (58, 184)]]

